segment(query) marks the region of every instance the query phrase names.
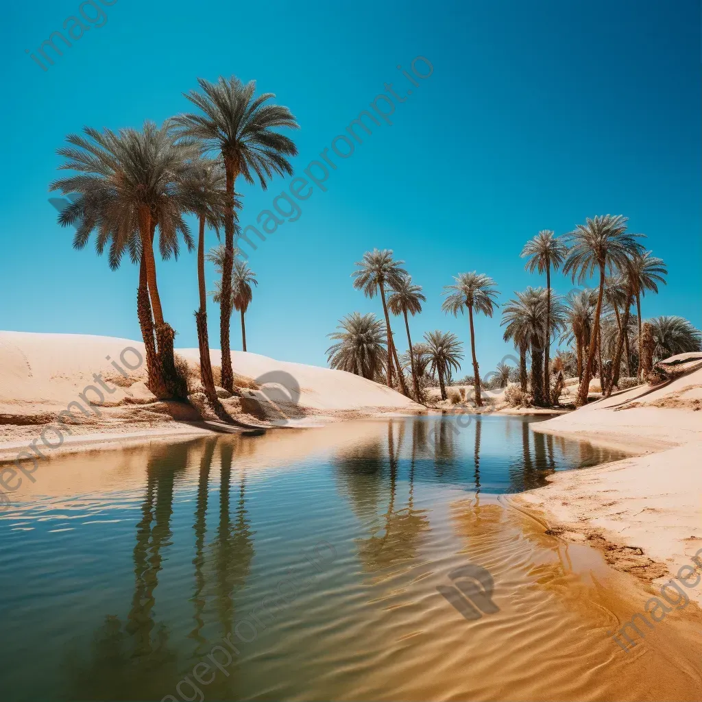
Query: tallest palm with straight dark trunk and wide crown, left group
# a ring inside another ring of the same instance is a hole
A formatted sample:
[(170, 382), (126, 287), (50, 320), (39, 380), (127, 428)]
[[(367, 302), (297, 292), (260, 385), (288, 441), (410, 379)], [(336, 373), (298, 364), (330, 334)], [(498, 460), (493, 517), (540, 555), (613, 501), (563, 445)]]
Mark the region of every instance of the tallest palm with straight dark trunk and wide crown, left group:
[(222, 385), (234, 392), (234, 372), (229, 342), (232, 316), (232, 268), (234, 266), (234, 185), (239, 176), (253, 185), (257, 178), (263, 190), (275, 174), (292, 175), (286, 157), (296, 156), (291, 139), (275, 131), (279, 127), (298, 129), (287, 107), (266, 105), (273, 93), (254, 98), (256, 82), (244, 85), (237, 77), (220, 76), (216, 83), (198, 78), (201, 93), (190, 91), (185, 97), (201, 114), (181, 114), (174, 119), (184, 137), (195, 138), (206, 150), (215, 152), (225, 169), (225, 260), (223, 262), (220, 307), (220, 345), (222, 347)]

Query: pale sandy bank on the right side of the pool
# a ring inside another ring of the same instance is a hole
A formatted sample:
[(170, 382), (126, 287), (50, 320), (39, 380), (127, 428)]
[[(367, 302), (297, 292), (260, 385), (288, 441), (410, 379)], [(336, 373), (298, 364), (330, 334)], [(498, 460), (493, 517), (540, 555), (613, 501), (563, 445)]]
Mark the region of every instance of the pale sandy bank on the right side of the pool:
[[(656, 583), (670, 578), (702, 548), (701, 400), (698, 369), (659, 390), (632, 388), (535, 424), (635, 455), (557, 473), (512, 501), (553, 533), (597, 546), (617, 569)], [(702, 592), (691, 597), (702, 603)]]

